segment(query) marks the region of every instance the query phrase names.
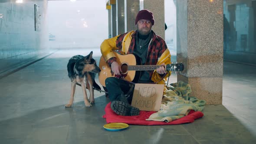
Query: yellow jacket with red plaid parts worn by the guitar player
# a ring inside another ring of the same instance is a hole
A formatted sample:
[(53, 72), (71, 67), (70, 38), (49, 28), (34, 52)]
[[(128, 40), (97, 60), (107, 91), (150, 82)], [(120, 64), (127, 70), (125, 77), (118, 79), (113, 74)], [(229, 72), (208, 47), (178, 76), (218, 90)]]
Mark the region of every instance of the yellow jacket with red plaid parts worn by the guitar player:
[[(100, 46), (101, 53), (105, 61), (108, 61), (109, 59), (115, 57), (115, 54), (113, 53), (113, 51), (115, 50), (121, 50), (123, 54), (132, 53), (135, 47), (136, 33), (137, 31), (131, 31), (112, 37), (110, 39), (105, 39)], [(156, 35), (154, 31), (152, 39), (148, 46), (148, 59), (156, 59), (156, 61), (146, 62), (145, 65), (161, 65), (162, 63), (164, 63), (165, 65), (171, 64), (171, 54), (166, 46), (166, 43), (164, 42), (164, 39)], [(156, 70), (154, 70), (151, 75), (151, 80), (153, 82), (157, 82), (158, 84), (165, 84), (166, 78), (168, 76), (169, 75), (167, 74), (164, 76), (164, 79), (162, 79), (161, 75), (159, 75)], [(164, 90), (167, 90), (166, 86)]]

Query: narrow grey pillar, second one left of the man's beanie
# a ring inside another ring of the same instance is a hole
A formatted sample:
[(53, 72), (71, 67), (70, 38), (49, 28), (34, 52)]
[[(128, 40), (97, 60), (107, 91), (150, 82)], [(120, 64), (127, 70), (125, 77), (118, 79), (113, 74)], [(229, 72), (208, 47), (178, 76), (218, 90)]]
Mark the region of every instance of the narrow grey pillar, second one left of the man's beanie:
[(125, 0), (116, 0), (116, 35), (125, 33)]

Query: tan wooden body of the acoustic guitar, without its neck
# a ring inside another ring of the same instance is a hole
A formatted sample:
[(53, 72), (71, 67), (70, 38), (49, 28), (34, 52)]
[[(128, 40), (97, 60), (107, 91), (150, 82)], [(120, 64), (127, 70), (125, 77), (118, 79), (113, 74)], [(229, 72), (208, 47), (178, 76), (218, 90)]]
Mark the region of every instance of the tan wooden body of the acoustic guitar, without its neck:
[[(118, 62), (119, 65), (121, 65), (121, 69), (122, 69), (122, 77), (131, 82), (133, 81), (133, 79), (135, 78), (135, 74), (136, 71), (127, 71), (125, 68), (128, 65), (136, 65), (136, 58), (133, 54), (127, 54), (127, 55), (120, 55), (116, 52), (115, 56), (116, 56), (116, 62)], [(99, 68), (101, 69), (101, 72), (99, 72), (98, 74), (98, 79), (99, 82), (101, 83), (102, 86), (106, 86), (105, 85), (105, 79), (107, 79), (108, 77), (118, 77), (120, 78), (120, 75), (115, 75), (112, 71), (111, 71), (111, 67), (108, 65), (107, 62), (105, 62), (105, 59), (103, 58), (103, 56), (101, 56), (100, 61), (99, 61)]]

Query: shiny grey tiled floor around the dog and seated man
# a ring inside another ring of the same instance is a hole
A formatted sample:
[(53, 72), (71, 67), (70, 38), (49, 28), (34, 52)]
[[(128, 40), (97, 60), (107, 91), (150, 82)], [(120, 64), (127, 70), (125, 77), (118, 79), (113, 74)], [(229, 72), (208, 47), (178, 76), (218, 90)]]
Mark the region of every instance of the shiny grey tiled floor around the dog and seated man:
[[(64, 108), (70, 95), (66, 64), (90, 51), (59, 50), (0, 79), (1, 144), (256, 144), (256, 66), (224, 62), (223, 105), (206, 106), (194, 123), (113, 132), (102, 128), (109, 102), (104, 93), (95, 92), (95, 105), (85, 108), (78, 87), (73, 108)], [(176, 82), (176, 75), (170, 80)]]

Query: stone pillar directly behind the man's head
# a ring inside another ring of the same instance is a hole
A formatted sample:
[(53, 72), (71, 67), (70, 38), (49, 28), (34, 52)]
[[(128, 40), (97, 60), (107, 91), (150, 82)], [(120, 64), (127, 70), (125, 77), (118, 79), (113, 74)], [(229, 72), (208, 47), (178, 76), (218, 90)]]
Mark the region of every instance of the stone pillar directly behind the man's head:
[(147, 9), (154, 14), (154, 32), (164, 39), (164, 0), (140, 0), (140, 10)]

